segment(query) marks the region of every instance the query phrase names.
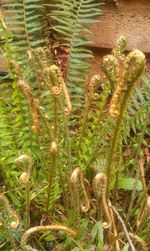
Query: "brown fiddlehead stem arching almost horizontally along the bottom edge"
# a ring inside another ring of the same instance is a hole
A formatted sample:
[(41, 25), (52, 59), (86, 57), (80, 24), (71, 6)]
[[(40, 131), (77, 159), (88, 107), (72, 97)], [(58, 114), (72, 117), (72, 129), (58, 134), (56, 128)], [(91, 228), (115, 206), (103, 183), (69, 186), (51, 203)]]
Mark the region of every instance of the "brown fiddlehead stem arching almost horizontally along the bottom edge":
[(61, 225), (48, 225), (48, 226), (36, 226), (28, 229), (21, 238), (21, 248), (24, 251), (37, 251), (36, 249), (33, 249), (30, 245), (27, 245), (27, 242), (29, 238), (31, 238), (31, 235), (36, 233), (43, 233), (46, 231), (64, 231), (67, 234), (69, 234), (72, 238), (76, 237), (76, 232), (69, 227), (61, 226)]

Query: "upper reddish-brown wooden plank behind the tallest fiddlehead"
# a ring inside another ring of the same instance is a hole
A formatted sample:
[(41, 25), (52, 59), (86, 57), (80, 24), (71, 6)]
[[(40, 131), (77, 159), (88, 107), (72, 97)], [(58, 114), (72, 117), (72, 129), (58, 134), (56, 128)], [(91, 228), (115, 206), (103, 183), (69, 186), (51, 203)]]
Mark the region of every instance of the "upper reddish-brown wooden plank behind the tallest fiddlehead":
[(150, 53), (150, 0), (118, 0), (106, 5), (100, 22), (91, 25), (95, 47), (113, 48), (117, 38), (128, 39), (127, 50), (137, 48)]

